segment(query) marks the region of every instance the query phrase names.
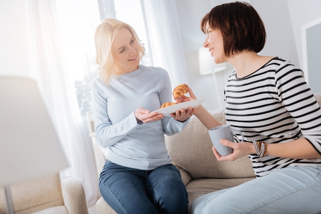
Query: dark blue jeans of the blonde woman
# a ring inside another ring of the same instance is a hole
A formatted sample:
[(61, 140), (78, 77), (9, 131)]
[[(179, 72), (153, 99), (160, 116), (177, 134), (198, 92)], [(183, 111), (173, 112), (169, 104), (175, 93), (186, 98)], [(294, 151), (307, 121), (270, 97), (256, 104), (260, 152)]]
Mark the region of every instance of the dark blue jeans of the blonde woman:
[(172, 164), (140, 170), (107, 160), (99, 177), (99, 190), (118, 214), (188, 212), (187, 191)]

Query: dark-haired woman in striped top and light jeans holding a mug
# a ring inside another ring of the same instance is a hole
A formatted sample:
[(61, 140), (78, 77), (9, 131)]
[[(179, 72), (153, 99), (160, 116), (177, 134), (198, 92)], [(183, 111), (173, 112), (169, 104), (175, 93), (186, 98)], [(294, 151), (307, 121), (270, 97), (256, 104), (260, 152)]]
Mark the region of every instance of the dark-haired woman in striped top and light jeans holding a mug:
[[(225, 115), (244, 134), (241, 143), (220, 140), (232, 154), (221, 157), (214, 147), (213, 153), (218, 161), (248, 156), (257, 178), (199, 197), (192, 213), (321, 213), (321, 110), (304, 73), (257, 54), (266, 31), (248, 3), (214, 7), (201, 27), (214, 61), (235, 69), (225, 88)], [(193, 114), (208, 129), (220, 125), (203, 106)]]

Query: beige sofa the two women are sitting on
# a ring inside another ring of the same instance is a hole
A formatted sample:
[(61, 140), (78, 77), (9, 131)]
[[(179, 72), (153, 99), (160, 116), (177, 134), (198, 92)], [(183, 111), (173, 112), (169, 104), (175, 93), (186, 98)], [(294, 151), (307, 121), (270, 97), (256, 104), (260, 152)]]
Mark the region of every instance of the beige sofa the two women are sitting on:
[[(321, 104), (321, 94), (315, 97)], [(210, 112), (219, 122), (226, 123), (224, 110)], [(181, 133), (166, 136), (166, 144), (172, 162), (180, 170), (186, 185), (189, 207), (199, 196), (255, 179), (248, 157), (236, 161), (216, 160), (208, 131), (194, 116)], [(97, 201), (96, 208), (102, 213), (115, 213), (103, 198)]]

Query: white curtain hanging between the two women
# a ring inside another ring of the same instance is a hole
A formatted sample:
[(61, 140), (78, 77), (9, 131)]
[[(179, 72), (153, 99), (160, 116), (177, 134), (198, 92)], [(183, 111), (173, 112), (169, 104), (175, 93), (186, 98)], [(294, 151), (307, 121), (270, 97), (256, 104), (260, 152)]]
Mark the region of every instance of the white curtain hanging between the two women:
[(172, 0), (141, 0), (153, 66), (166, 69), (172, 87), (188, 84), (176, 3)]

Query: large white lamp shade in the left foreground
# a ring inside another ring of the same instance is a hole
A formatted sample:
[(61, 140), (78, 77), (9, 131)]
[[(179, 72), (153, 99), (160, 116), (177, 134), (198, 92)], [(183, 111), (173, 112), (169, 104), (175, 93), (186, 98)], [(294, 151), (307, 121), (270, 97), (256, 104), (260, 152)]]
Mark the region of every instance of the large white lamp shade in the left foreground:
[(0, 186), (58, 173), (68, 166), (37, 83), (0, 77)]

